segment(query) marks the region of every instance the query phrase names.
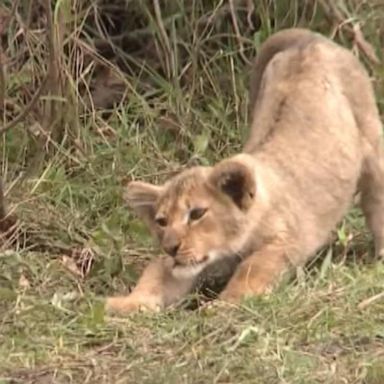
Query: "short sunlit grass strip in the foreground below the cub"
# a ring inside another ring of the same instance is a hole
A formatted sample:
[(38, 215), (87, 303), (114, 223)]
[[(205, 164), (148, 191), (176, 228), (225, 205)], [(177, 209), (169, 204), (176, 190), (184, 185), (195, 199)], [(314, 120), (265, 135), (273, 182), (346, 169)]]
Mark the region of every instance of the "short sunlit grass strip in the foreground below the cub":
[(128, 318), (105, 317), (92, 282), (49, 255), (10, 252), (0, 271), (0, 382), (384, 380), (384, 302), (358, 308), (382, 291), (383, 265), (331, 264), (238, 308)]

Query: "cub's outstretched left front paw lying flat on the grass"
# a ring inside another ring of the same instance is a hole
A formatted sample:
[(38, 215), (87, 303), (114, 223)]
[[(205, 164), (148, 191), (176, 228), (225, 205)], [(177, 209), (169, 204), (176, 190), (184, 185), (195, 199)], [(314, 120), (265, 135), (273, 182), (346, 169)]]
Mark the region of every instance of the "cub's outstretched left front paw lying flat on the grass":
[(162, 307), (160, 300), (149, 296), (108, 297), (105, 301), (105, 311), (118, 315), (132, 312), (159, 312)]

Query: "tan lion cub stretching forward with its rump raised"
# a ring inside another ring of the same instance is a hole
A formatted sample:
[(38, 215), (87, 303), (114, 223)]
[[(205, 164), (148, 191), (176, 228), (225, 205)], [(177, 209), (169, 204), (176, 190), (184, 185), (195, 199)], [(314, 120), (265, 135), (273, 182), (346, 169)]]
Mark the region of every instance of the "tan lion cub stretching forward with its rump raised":
[(251, 115), (241, 154), (162, 186), (128, 185), (128, 205), (168, 256), (147, 267), (129, 296), (107, 299), (108, 310), (169, 306), (209, 265), (234, 257), (220, 298), (262, 294), (327, 242), (357, 190), (376, 255), (384, 255), (382, 127), (352, 53), (310, 31), (276, 33), (255, 61)]

